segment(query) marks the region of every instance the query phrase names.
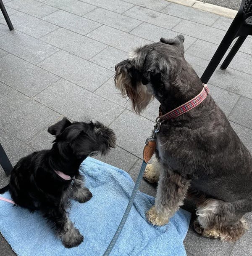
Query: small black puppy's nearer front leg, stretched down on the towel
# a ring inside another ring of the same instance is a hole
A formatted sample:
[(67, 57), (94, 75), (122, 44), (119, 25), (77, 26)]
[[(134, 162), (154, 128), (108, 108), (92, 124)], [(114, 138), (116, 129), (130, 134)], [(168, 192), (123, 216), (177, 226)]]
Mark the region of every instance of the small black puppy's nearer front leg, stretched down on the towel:
[(44, 216), (53, 223), (56, 234), (66, 248), (78, 246), (83, 242), (84, 237), (79, 232), (79, 229), (74, 227), (73, 222), (68, 219), (63, 208), (59, 207), (44, 211)]

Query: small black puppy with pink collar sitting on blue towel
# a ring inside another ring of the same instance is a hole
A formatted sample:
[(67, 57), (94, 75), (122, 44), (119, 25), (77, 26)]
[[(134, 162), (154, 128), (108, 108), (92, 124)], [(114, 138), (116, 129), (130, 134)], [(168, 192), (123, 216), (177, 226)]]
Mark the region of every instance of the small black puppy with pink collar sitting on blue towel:
[(48, 128), (55, 135), (52, 149), (34, 152), (14, 166), (10, 191), (14, 202), (30, 211), (40, 210), (55, 226), (65, 247), (78, 246), (83, 236), (68, 219), (70, 199), (87, 202), (92, 193), (79, 174), (81, 162), (95, 152), (106, 154), (115, 147), (115, 134), (99, 122), (74, 122), (63, 118)]

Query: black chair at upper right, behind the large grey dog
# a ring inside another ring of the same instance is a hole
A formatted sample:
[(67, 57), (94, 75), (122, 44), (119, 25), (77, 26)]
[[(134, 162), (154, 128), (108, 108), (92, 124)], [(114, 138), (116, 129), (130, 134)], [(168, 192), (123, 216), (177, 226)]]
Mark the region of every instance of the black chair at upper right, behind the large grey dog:
[(228, 67), (248, 35), (252, 35), (252, 0), (242, 0), (238, 13), (201, 77), (202, 83), (208, 82), (233, 40), (239, 37), (220, 66), (221, 69)]

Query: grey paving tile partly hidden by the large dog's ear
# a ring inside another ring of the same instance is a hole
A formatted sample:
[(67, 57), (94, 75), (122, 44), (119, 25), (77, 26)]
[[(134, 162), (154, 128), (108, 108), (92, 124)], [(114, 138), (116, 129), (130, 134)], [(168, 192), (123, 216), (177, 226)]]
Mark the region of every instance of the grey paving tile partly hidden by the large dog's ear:
[[(153, 42), (158, 42), (161, 37), (165, 38), (173, 38), (178, 35), (177, 32), (174, 32), (169, 29), (164, 29), (162, 27), (157, 27), (155, 25), (149, 24), (149, 23), (142, 23), (140, 26), (136, 27), (133, 29), (131, 34), (143, 37), (147, 40), (151, 40)], [(197, 39), (194, 37), (189, 37), (185, 36), (185, 41), (184, 41), (184, 48), (185, 50), (192, 45)]]

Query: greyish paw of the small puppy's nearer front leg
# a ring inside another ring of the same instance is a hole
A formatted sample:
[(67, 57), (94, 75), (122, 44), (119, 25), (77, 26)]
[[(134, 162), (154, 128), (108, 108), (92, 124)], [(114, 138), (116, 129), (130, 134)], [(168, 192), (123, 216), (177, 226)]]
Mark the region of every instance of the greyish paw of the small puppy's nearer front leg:
[(60, 238), (66, 248), (78, 246), (84, 240), (84, 237), (79, 232), (79, 229), (76, 229), (75, 227), (68, 229), (67, 232), (64, 235), (61, 235)]

